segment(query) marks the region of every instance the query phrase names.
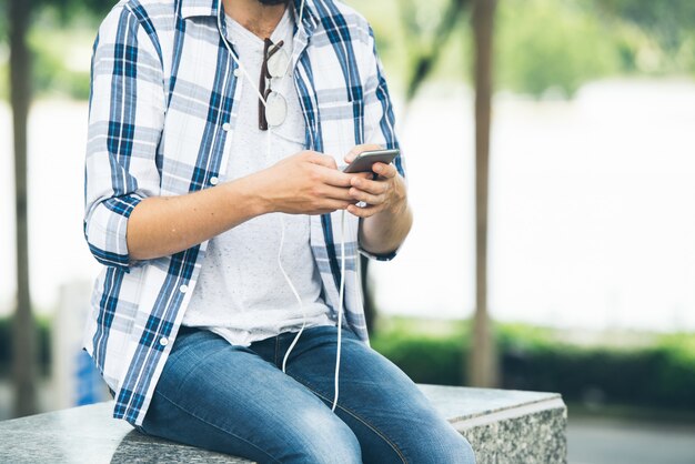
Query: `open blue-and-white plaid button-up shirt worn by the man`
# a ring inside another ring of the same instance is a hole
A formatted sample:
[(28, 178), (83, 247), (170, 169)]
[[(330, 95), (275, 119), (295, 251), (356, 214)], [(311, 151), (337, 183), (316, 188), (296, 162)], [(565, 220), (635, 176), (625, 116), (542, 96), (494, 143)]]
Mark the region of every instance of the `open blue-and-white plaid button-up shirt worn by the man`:
[[(224, 181), (235, 102), (248, 82), (221, 41), (216, 3), (122, 0), (94, 43), (84, 236), (104, 268), (94, 284), (83, 345), (115, 395), (114, 417), (135, 425), (142, 424), (175, 340), (208, 242), (135, 262), (127, 248), (128, 218), (144, 198), (181, 195)], [(300, 3), (293, 6), (295, 18)], [(367, 22), (338, 1), (306, 0), (294, 41), (306, 148), (342, 163), (355, 144), (397, 147)], [(404, 175), (402, 160), (395, 164)], [(345, 324), (366, 342), (357, 226), (359, 220), (346, 214)], [(310, 244), (333, 319), (340, 241), (339, 212), (311, 216)]]

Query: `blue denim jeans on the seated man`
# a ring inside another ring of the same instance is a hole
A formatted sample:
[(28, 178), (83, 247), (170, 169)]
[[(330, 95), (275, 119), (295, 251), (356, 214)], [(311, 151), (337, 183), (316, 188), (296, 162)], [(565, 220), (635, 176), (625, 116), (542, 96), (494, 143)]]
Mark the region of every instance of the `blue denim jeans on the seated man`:
[(394, 364), (334, 326), (235, 346), (181, 327), (139, 430), (259, 463), (469, 464), (469, 442)]

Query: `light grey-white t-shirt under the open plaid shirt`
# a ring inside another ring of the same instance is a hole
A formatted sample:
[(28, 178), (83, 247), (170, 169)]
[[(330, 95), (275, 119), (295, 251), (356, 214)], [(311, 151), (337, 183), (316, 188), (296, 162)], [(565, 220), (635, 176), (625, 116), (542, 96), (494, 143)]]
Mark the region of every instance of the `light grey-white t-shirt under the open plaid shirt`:
[[(234, 42), (253, 87), (241, 74), (241, 95), (233, 131), (226, 180), (263, 170), (304, 148), (304, 119), (294, 88), (292, 65), (271, 87), (288, 102), (285, 121), (268, 131), (259, 130), (256, 92), (263, 61), (263, 40), (226, 18), (228, 34)], [(292, 56), (294, 20), (288, 9), (271, 36), (273, 43), (284, 40)], [(270, 159), (266, 147), (270, 137)], [(321, 296), (319, 270), (309, 243), (308, 215), (282, 214), (284, 243), (281, 260), (302, 299), (306, 326), (334, 325)], [(282, 332), (299, 331), (304, 314), (278, 264), (281, 242), (281, 214), (264, 214), (246, 221), (210, 240), (200, 279), (183, 317), (183, 325), (208, 329), (235, 345), (248, 346)]]

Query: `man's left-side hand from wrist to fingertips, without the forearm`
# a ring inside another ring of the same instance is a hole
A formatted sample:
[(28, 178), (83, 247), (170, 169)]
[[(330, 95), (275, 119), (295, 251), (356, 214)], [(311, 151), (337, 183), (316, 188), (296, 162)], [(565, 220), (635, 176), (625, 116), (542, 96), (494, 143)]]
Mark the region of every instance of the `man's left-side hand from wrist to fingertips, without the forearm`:
[(268, 212), (325, 214), (359, 202), (351, 195), (352, 182), (370, 173), (346, 174), (332, 157), (302, 151), (255, 174), (258, 194)]

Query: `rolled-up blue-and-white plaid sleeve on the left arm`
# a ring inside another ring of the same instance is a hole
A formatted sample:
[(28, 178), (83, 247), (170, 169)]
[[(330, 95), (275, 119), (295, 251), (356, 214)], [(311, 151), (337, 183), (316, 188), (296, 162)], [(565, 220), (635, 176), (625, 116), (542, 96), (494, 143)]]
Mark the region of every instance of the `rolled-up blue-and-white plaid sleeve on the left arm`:
[(84, 169), (84, 238), (102, 264), (128, 271), (128, 220), (160, 191), (158, 145), (164, 80), (153, 31), (125, 6), (102, 22), (94, 42)]

